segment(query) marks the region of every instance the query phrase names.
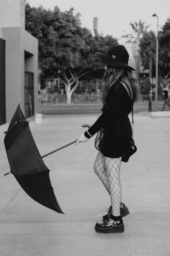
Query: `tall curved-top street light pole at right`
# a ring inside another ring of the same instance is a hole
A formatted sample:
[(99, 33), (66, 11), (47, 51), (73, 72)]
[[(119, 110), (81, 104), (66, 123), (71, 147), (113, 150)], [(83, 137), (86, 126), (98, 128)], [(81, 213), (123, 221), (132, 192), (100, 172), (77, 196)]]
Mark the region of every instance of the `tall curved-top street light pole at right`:
[(156, 36), (156, 81), (155, 81), (155, 111), (158, 111), (158, 16), (153, 14), (152, 17), (157, 17), (157, 36)]

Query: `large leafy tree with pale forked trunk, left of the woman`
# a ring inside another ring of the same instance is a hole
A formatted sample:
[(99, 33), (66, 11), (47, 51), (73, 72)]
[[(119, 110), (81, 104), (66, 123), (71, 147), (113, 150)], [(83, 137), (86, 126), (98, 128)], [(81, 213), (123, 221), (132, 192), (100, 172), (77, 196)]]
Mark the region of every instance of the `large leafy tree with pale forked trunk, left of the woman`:
[(58, 7), (52, 11), (26, 4), (25, 10), (26, 30), (39, 40), (39, 67), (44, 76), (53, 78), (60, 69), (67, 103), (71, 103), (81, 77), (104, 68), (95, 51), (105, 52), (118, 42), (111, 36), (93, 37), (81, 27), (80, 14), (74, 15), (73, 8), (61, 12)]

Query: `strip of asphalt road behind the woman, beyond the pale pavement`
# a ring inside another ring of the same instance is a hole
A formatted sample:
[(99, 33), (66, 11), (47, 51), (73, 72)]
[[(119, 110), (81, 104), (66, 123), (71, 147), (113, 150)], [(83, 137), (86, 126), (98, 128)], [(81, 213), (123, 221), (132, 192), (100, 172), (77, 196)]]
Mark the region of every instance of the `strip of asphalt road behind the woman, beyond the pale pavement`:
[[(162, 105), (158, 106), (158, 110), (161, 110)], [(45, 115), (67, 115), (67, 114), (100, 114), (102, 106), (94, 107), (61, 107), (61, 106), (39, 106), (38, 111), (41, 111)], [(154, 110), (154, 107), (153, 107)], [(169, 110), (168, 107), (165, 111)], [(148, 105), (134, 105), (134, 113), (148, 111)]]

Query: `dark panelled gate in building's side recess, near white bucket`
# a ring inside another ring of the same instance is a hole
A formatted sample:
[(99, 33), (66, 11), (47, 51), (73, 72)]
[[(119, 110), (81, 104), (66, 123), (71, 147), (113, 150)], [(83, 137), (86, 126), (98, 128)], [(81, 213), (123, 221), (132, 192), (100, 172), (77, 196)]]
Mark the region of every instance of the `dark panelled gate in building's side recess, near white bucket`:
[(34, 115), (34, 73), (25, 71), (25, 118)]

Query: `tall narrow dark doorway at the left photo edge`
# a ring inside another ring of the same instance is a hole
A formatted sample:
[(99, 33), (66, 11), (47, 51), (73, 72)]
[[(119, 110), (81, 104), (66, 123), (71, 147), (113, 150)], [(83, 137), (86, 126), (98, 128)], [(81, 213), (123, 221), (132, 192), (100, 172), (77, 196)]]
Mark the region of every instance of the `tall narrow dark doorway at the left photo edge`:
[(0, 125), (5, 123), (5, 40), (0, 38)]

